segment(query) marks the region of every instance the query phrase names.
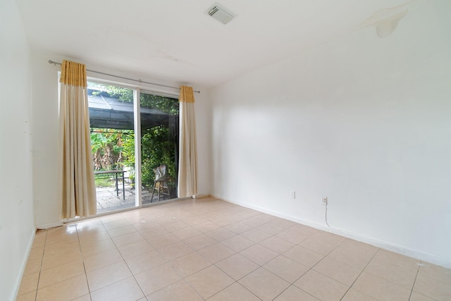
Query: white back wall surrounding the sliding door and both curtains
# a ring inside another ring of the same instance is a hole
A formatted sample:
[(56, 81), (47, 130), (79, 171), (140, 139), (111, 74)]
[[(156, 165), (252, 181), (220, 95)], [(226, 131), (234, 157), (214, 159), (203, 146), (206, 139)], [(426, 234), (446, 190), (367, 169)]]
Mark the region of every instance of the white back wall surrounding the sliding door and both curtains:
[[(78, 61), (76, 58), (57, 54), (32, 51), (32, 77), (33, 77), (33, 106), (34, 133), (33, 145), (35, 147), (34, 160), (34, 190), (37, 206), (35, 219), (38, 228), (48, 228), (61, 223), (61, 200), (58, 190), (58, 71), (60, 66), (50, 65), (49, 59), (61, 62), (63, 59)], [(121, 75), (127, 78), (141, 78), (149, 82), (161, 82), (136, 75), (124, 73), (121, 70), (111, 70), (105, 66), (97, 66), (95, 62), (78, 61), (85, 63), (90, 70)], [(97, 73), (88, 73), (88, 76), (99, 78)], [(118, 81), (117, 78), (102, 76), (102, 80)], [(123, 81), (124, 82), (124, 81)], [(136, 82), (124, 82), (136, 85)], [(190, 85), (189, 82), (174, 83), (161, 82), (165, 85)], [(199, 152), (199, 194), (209, 194), (209, 103), (208, 93), (194, 85), (194, 90), (201, 90), (194, 94), (196, 100), (196, 117)], [(159, 92), (162, 92), (161, 90)], [(169, 91), (168, 91), (169, 92)], [(170, 92), (178, 92), (171, 90)]]

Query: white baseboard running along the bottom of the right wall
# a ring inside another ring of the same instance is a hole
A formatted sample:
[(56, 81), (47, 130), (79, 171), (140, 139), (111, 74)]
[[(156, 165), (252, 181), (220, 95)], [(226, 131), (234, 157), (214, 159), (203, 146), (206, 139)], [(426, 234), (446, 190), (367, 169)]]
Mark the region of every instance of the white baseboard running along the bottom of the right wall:
[[(214, 196), (212, 195), (211, 197), (214, 197)], [(215, 198), (216, 199), (221, 199), (219, 197), (215, 197)], [(449, 260), (441, 258), (441, 257), (435, 257), (435, 256), (433, 256), (431, 254), (424, 254), (424, 253), (421, 253), (421, 252), (417, 252), (415, 250), (405, 249), (404, 247), (401, 247), (401, 246), (398, 246), (398, 245), (393, 245), (393, 244), (390, 244), (388, 242), (383, 242), (381, 240), (376, 240), (376, 239), (368, 238), (368, 237), (365, 237), (365, 236), (362, 236), (362, 235), (358, 235), (358, 234), (355, 234), (355, 233), (342, 231), (342, 230), (337, 229), (337, 228), (333, 228), (333, 227), (329, 228), (329, 227), (320, 225), (319, 223), (312, 223), (311, 221), (305, 221), (303, 219), (298, 219), (295, 216), (288, 216), (288, 215), (285, 215), (285, 214), (281, 214), (280, 212), (271, 211), (271, 210), (268, 210), (268, 209), (265, 209), (265, 208), (262, 208), (262, 207), (254, 206), (252, 204), (242, 204), (242, 203), (237, 203), (237, 202), (231, 202), (231, 201), (228, 201), (227, 199), (221, 199), (221, 200), (223, 200), (224, 202), (237, 204), (237, 205), (242, 206), (242, 207), (247, 207), (249, 209), (254, 209), (254, 210), (266, 213), (266, 214), (271, 214), (273, 216), (277, 216), (277, 217), (280, 217), (282, 219), (288, 219), (289, 221), (294, 221), (295, 223), (302, 223), (303, 225), (310, 226), (311, 228), (316, 228), (316, 229), (319, 229), (319, 230), (322, 230), (322, 231), (330, 232), (330, 233), (333, 233), (333, 234), (336, 234), (336, 235), (343, 236), (345, 238), (350, 238), (350, 239), (353, 239), (353, 240), (357, 240), (359, 242), (364, 242), (364, 243), (367, 243), (369, 245), (373, 245), (375, 247), (380, 247), (381, 249), (384, 249), (384, 250), (396, 252), (398, 254), (402, 254), (402, 255), (405, 255), (407, 257), (412, 257), (412, 258), (419, 259), (419, 260), (424, 261), (424, 262), (429, 262), (431, 264), (436, 264), (438, 266), (443, 266), (443, 267), (445, 267), (447, 269), (451, 269), (451, 262)]]

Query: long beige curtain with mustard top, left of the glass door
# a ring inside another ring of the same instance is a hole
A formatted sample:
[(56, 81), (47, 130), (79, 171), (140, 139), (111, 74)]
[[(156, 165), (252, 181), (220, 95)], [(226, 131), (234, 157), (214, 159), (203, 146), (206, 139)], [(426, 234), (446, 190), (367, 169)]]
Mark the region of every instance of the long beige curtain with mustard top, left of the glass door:
[(86, 66), (63, 61), (60, 82), (63, 219), (72, 219), (96, 214), (97, 210)]

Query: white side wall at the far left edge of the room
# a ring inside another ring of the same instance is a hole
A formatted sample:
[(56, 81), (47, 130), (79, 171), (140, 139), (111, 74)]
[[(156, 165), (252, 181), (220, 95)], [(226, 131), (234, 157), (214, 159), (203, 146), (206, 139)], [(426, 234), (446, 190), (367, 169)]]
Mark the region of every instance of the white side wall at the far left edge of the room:
[(15, 1), (0, 2), (0, 300), (15, 300), (35, 234), (30, 49)]

